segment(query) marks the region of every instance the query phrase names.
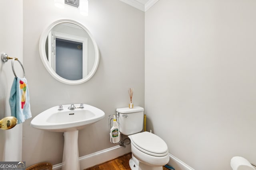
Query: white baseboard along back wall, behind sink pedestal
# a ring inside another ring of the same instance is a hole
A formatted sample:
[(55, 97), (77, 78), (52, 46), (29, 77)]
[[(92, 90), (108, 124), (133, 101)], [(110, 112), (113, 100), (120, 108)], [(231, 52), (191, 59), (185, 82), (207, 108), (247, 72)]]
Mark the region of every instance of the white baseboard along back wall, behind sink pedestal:
[[(86, 168), (90, 168), (92, 166), (101, 164), (108, 160), (112, 160), (114, 158), (117, 158), (118, 156), (122, 156), (129, 152), (131, 152), (130, 147), (126, 147), (124, 149), (123, 147), (120, 147), (118, 145), (118, 146), (111, 147), (108, 149), (100, 150), (98, 152), (94, 152), (92, 154), (81, 156), (79, 158), (80, 170), (84, 170)], [(52, 170), (61, 170), (61, 167), (62, 167), (62, 163), (56, 164), (56, 165), (52, 166)]]

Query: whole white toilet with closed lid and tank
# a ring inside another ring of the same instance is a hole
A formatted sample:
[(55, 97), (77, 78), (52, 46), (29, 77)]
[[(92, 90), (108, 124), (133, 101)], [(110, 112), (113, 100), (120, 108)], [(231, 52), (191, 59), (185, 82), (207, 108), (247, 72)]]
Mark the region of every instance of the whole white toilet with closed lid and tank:
[(119, 130), (131, 140), (132, 158), (129, 165), (132, 170), (162, 170), (169, 162), (166, 143), (157, 135), (141, 132), (143, 129), (144, 108), (118, 108)]

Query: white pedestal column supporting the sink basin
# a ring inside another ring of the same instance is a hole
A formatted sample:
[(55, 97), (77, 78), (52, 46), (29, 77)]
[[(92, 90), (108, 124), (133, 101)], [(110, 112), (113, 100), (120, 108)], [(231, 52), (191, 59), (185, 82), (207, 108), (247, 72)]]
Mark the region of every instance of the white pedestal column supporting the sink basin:
[(62, 170), (80, 170), (77, 130), (64, 132)]

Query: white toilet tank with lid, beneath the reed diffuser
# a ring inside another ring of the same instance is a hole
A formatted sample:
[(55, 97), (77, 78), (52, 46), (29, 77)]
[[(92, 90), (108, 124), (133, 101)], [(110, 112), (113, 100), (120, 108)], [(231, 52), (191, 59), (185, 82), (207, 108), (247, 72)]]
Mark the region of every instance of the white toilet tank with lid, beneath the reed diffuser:
[(116, 113), (119, 115), (119, 130), (124, 135), (132, 135), (143, 129), (144, 108), (136, 106), (118, 108)]

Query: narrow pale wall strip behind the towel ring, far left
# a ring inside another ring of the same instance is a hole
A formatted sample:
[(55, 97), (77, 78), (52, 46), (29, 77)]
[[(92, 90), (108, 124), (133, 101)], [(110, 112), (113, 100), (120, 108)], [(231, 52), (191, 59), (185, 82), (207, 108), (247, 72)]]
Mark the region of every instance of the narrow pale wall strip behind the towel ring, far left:
[[(7, 53), (10, 57), (17, 57), (21, 63), (23, 63), (22, 10), (22, 0), (0, 1), (0, 55)], [(4, 63), (0, 59), (0, 119), (11, 115), (9, 98), (14, 80), (11, 63), (11, 60)], [(14, 63), (14, 70), (17, 76), (23, 77), (18, 62)], [(0, 161), (20, 161), (21, 147), (22, 124), (8, 131), (0, 130)]]

